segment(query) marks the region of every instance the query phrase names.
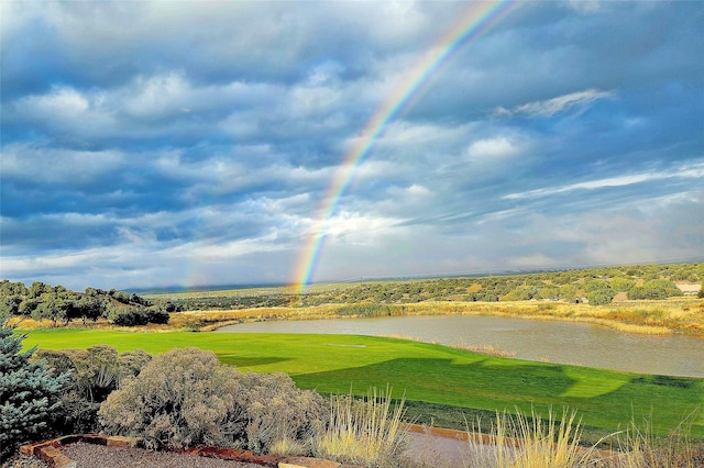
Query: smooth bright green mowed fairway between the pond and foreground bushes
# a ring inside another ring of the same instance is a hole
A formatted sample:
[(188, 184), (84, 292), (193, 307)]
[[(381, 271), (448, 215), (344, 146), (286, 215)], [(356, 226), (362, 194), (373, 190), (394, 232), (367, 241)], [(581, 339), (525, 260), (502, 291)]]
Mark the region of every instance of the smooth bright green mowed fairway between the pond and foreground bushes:
[(481, 410), (535, 408), (546, 415), (578, 410), (583, 424), (606, 431), (644, 417), (659, 434), (694, 411), (691, 436), (704, 438), (704, 379), (617, 372), (488, 357), (447, 346), (355, 335), (128, 333), (95, 330), (29, 332), (25, 347), (86, 348), (158, 354), (195, 346), (243, 371), (284, 371), (301, 388), (364, 394), (389, 386), (394, 397)]

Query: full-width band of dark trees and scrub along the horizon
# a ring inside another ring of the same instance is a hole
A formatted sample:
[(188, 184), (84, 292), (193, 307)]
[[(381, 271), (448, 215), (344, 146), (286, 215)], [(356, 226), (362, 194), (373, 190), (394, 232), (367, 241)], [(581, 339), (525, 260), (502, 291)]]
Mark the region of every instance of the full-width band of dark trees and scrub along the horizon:
[[(703, 264), (632, 265), (603, 268), (543, 271), (522, 275), (414, 279), (330, 285), (327, 288), (294, 294), (267, 290), (251, 294), (175, 297), (150, 300), (110, 289), (86, 288), (69, 291), (34, 281), (0, 282), (0, 315), (51, 320), (54, 325), (73, 320), (97, 321), (105, 317), (116, 325), (133, 326), (167, 323), (170, 312), (183, 310), (234, 310), (272, 307), (311, 307), (321, 304), (404, 304), (422, 301), (498, 302), (562, 301), (610, 303), (623, 293), (630, 300), (654, 300), (682, 296), (676, 282), (702, 282)], [(166, 297), (166, 296), (162, 296)], [(700, 291), (704, 297), (704, 287)]]

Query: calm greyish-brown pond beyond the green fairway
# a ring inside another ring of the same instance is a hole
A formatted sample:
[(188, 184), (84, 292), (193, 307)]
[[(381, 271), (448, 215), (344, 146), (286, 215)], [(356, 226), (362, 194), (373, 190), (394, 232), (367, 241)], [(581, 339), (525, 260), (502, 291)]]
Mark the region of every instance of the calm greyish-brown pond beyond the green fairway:
[(574, 322), (432, 315), (255, 322), (219, 332), (395, 336), (449, 346), (488, 345), (519, 359), (704, 377), (704, 338), (626, 334)]

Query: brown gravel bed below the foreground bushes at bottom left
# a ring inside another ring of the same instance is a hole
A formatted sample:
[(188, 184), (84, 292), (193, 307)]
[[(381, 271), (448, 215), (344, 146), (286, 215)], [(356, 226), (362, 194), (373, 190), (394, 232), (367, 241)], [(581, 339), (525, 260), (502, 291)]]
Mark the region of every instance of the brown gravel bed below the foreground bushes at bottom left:
[(143, 448), (106, 447), (77, 443), (62, 447), (62, 452), (80, 468), (262, 468), (189, 454), (154, 452)]

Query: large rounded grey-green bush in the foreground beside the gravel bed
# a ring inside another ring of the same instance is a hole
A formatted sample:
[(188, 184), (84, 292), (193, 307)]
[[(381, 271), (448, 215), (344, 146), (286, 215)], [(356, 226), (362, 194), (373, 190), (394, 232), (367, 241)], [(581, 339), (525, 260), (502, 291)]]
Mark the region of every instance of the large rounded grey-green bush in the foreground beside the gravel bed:
[(106, 432), (144, 437), (152, 448), (217, 445), (263, 453), (277, 444), (304, 450), (305, 443), (293, 442), (322, 424), (324, 414), (322, 398), (299, 390), (285, 374), (243, 374), (197, 348), (157, 356), (98, 413)]

